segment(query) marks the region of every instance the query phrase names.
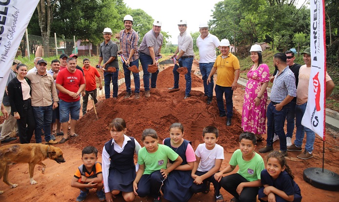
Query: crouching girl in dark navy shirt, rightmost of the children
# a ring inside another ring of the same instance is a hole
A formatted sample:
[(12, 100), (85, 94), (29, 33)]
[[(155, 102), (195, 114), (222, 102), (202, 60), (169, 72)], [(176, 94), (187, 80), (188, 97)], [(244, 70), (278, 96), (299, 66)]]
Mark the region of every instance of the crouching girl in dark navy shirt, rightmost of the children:
[(263, 187), (258, 192), (259, 201), (301, 202), (300, 188), (293, 179), (285, 157), (277, 151), (269, 153), (266, 169), (261, 171)]

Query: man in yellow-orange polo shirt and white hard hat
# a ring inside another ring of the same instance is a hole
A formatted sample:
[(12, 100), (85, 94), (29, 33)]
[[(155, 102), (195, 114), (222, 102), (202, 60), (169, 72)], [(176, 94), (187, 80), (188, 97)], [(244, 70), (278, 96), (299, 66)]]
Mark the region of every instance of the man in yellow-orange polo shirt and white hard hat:
[[(220, 41), (219, 47), (221, 54), (214, 62), (213, 68), (207, 79), (207, 84), (211, 82), (211, 77), (218, 69), (218, 76), (216, 82), (216, 98), (219, 108), (219, 117), (227, 117), (226, 125), (231, 125), (233, 117), (233, 91), (237, 89), (239, 79), (239, 60), (230, 52), (230, 41), (223, 39)], [(223, 94), (225, 94), (226, 110), (223, 103)]]

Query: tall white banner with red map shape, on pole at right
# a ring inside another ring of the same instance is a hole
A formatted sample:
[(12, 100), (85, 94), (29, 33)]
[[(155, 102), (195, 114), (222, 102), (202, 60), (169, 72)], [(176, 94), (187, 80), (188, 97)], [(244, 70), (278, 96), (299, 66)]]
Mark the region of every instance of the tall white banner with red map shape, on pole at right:
[(308, 100), (301, 124), (325, 141), (326, 41), (324, 0), (310, 0), (311, 11), (311, 75)]

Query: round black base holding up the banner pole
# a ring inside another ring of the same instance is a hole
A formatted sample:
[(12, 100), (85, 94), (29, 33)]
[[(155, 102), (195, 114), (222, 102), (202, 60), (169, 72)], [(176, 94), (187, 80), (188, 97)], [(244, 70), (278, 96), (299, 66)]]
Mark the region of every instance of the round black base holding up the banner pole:
[(330, 170), (315, 167), (307, 168), (303, 172), (303, 179), (316, 188), (339, 191), (339, 175)]

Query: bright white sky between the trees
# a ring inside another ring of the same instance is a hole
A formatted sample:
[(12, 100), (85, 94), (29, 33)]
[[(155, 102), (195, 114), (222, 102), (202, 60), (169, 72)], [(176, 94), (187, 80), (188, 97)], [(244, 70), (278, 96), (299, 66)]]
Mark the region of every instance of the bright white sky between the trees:
[[(126, 6), (140, 8), (154, 20), (162, 21), (161, 31), (168, 32), (172, 44), (178, 44), (178, 21), (187, 20), (187, 31), (198, 32), (200, 21), (212, 20), (214, 5), (221, 0), (124, 0)], [(133, 17), (133, 16), (132, 16)], [(153, 22), (152, 22), (153, 23)]]

